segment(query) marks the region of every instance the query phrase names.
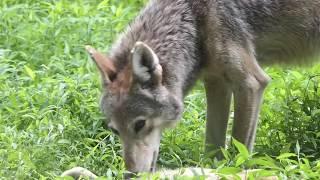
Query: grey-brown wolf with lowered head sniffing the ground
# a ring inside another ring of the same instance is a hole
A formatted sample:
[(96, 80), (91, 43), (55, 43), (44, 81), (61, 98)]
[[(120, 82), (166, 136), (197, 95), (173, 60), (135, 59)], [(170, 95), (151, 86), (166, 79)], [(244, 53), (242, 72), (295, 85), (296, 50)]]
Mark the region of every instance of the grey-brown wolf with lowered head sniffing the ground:
[(153, 172), (161, 134), (179, 122), (198, 79), (207, 99), (206, 151), (225, 146), (232, 96), (232, 136), (253, 150), (270, 81), (261, 66), (319, 57), (320, 0), (150, 0), (108, 54), (86, 49), (127, 170)]

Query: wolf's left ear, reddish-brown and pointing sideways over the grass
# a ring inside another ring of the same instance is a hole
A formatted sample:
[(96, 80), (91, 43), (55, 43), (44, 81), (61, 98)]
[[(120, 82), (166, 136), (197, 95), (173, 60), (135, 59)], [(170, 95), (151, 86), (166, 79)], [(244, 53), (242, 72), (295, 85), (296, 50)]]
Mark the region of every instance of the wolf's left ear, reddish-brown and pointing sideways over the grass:
[(107, 58), (104, 54), (98, 52), (91, 46), (85, 47), (90, 54), (92, 60), (96, 63), (102, 77), (104, 85), (109, 84), (116, 76), (116, 68), (113, 62)]

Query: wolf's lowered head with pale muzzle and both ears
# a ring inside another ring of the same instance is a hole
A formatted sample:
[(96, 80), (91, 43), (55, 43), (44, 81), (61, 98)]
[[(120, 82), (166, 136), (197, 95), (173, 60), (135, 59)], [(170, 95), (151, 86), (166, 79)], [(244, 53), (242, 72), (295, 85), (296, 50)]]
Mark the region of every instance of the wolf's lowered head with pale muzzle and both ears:
[(102, 77), (101, 109), (107, 127), (118, 134), (126, 167), (131, 172), (154, 171), (161, 133), (182, 114), (182, 102), (162, 82), (162, 66), (154, 51), (137, 42), (128, 63), (119, 67), (92, 47), (86, 47)]

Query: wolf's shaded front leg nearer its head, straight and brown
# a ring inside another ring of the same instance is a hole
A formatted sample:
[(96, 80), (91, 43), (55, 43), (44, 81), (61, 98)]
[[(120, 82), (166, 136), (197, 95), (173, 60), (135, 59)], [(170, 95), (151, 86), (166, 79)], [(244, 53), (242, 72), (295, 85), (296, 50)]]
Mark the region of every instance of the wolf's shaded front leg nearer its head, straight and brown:
[(222, 159), (219, 149), (225, 146), (232, 91), (223, 77), (206, 77), (204, 83), (207, 96), (206, 153), (218, 150), (216, 157)]

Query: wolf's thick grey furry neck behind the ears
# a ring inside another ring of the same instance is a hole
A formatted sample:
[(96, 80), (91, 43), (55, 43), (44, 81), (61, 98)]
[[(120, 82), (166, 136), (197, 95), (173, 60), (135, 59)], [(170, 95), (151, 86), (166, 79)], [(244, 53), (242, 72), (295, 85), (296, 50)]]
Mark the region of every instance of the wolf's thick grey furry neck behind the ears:
[(190, 0), (154, 0), (133, 21), (113, 47), (111, 56), (126, 66), (135, 42), (142, 41), (157, 54), (163, 84), (183, 98), (196, 81), (200, 66), (197, 18)]

